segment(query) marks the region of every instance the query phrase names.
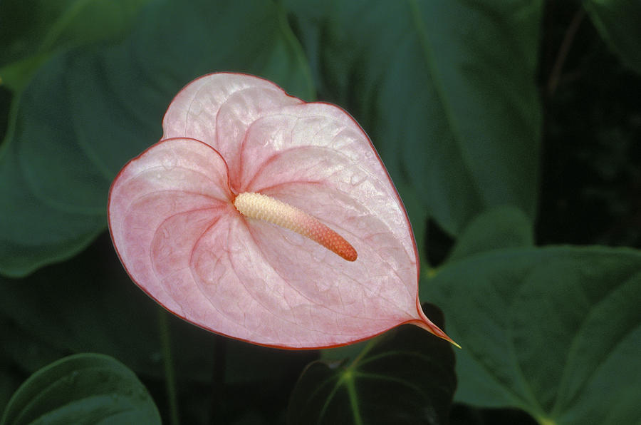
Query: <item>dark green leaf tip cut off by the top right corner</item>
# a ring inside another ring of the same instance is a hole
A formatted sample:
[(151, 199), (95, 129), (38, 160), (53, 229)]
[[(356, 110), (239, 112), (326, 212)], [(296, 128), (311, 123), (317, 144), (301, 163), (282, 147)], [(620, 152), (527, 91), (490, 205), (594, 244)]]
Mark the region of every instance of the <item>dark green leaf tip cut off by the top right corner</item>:
[(612, 51), (641, 74), (641, 1), (584, 0), (583, 5)]

